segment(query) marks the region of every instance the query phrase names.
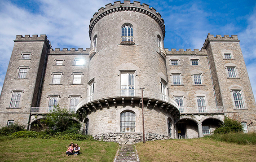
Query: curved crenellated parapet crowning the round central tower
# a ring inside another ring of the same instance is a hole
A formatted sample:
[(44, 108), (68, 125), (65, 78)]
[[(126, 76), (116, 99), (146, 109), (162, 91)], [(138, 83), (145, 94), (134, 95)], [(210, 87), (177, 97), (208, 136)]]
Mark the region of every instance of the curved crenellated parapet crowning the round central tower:
[(153, 18), (159, 26), (162, 28), (163, 31), (163, 38), (165, 36), (165, 25), (163, 18), (161, 18), (161, 14), (156, 12), (156, 9), (153, 7), (149, 7), (148, 4), (141, 4), (138, 1), (133, 1), (133, 3), (130, 0), (124, 0), (124, 3), (121, 3), (120, 1), (114, 2), (114, 4), (106, 4), (105, 8), (100, 8), (98, 9), (98, 12), (93, 14), (93, 18), (90, 20), (90, 25), (89, 25), (89, 36), (91, 39), (92, 36), (92, 31), (93, 27), (95, 24), (101, 20), (103, 17), (106, 15), (109, 15), (111, 13), (115, 12), (121, 12), (121, 11), (133, 11), (133, 12), (139, 12), (142, 14), (146, 14)]

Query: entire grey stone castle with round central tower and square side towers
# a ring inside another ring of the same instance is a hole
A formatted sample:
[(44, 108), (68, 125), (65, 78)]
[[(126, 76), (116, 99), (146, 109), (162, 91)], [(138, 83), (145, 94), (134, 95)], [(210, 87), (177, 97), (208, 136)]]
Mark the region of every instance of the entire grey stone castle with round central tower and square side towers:
[[(207, 35), (202, 49), (164, 48), (165, 25), (147, 4), (98, 9), (91, 47), (55, 48), (17, 35), (0, 96), (0, 126), (31, 125), (54, 105), (81, 115), (95, 139), (134, 143), (210, 135), (224, 117), (256, 131), (256, 103), (237, 35)], [(202, 42), (203, 43), (203, 42)], [(143, 103), (141, 100), (143, 91)]]

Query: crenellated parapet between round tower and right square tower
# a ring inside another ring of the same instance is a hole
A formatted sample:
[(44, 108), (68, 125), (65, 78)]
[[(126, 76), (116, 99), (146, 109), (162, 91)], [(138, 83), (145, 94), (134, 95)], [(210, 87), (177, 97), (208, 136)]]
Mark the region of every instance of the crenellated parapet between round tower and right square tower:
[(166, 48), (165, 51), (166, 55), (207, 55), (206, 49), (201, 49), (200, 51), (199, 49), (194, 49), (194, 51), (191, 49), (186, 49), (186, 51), (184, 51), (184, 49), (179, 49), (177, 51), (176, 48), (172, 48), (171, 51), (169, 51), (169, 49)]

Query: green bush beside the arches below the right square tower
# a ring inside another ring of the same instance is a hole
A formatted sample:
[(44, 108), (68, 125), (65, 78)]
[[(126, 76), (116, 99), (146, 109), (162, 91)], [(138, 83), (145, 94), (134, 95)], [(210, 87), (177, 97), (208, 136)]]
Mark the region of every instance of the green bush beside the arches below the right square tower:
[(220, 127), (216, 128), (214, 133), (226, 134), (230, 132), (241, 132), (243, 131), (243, 126), (237, 120), (225, 117), (224, 123)]

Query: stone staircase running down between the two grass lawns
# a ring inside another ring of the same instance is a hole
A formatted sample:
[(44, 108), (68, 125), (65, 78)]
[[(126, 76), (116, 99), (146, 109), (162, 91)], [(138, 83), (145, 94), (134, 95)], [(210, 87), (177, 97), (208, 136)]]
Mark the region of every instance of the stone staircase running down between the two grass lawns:
[(135, 146), (133, 144), (121, 144), (114, 162), (140, 162)]

